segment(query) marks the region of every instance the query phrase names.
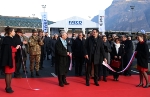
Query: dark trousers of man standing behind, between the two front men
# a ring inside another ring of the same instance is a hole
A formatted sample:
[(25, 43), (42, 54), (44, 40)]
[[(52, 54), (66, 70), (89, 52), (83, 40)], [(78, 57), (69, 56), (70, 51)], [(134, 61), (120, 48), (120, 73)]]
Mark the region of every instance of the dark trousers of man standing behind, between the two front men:
[(82, 57), (75, 57), (75, 74), (81, 75), (82, 74), (82, 66), (84, 64), (84, 58)]

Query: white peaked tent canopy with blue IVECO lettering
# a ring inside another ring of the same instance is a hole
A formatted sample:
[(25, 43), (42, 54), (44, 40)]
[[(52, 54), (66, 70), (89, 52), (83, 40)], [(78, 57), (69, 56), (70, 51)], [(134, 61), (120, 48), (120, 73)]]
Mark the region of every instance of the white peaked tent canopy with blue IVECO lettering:
[(49, 34), (51, 28), (64, 28), (65, 31), (68, 31), (69, 28), (82, 28), (83, 33), (85, 33), (86, 28), (98, 28), (98, 24), (90, 20), (74, 16), (48, 25)]

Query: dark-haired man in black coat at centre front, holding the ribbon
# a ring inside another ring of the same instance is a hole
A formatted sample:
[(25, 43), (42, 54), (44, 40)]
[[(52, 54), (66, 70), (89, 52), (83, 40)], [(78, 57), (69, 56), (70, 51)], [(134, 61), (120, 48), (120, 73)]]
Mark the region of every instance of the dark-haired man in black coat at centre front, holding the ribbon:
[(87, 68), (86, 68), (86, 86), (89, 86), (89, 80), (90, 80), (90, 71), (92, 68), (92, 64), (94, 64), (94, 83), (96, 86), (99, 86), (98, 84), (98, 65), (102, 63), (100, 61), (101, 53), (103, 56), (103, 60), (107, 62), (105, 57), (105, 51), (103, 46), (103, 41), (98, 35), (99, 31), (98, 29), (92, 30), (92, 36), (87, 38), (85, 41), (85, 50), (84, 55), (87, 61)]

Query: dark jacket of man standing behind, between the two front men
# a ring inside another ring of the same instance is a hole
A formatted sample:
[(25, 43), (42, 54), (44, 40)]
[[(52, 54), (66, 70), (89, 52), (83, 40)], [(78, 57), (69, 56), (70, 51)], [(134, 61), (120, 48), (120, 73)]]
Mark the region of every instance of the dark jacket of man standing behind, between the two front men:
[(72, 45), (73, 54), (75, 57), (84, 57), (85, 39), (76, 38)]

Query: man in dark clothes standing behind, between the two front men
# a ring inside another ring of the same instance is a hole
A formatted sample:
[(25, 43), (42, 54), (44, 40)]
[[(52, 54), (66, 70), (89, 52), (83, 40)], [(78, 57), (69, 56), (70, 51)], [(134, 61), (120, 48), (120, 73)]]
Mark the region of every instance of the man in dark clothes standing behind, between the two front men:
[(82, 67), (84, 64), (84, 44), (85, 39), (83, 39), (83, 33), (79, 33), (78, 37), (74, 40), (72, 48), (75, 57), (75, 75), (82, 75)]

